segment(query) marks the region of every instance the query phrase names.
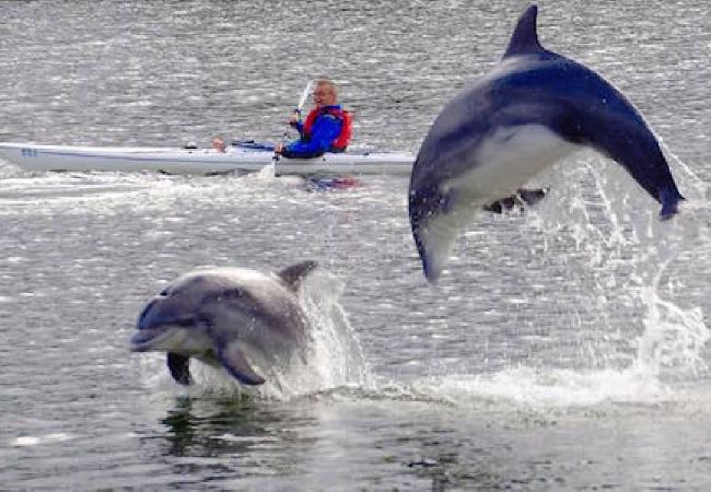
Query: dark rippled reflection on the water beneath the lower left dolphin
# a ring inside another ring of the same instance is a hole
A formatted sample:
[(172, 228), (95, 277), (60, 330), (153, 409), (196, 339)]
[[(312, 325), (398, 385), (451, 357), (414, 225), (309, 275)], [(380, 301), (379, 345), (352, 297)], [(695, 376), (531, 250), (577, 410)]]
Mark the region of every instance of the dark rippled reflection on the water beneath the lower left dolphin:
[(140, 437), (141, 447), (164, 457), (167, 476), (182, 477), (173, 485), (290, 477), (313, 442), (301, 430), (317, 424), (301, 410), (248, 396), (182, 396), (160, 426)]

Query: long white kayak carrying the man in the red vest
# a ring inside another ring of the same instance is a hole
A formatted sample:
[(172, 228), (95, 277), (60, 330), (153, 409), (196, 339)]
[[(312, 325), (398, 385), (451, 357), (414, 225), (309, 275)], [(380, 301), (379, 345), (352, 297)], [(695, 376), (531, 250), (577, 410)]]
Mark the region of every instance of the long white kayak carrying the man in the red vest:
[(224, 151), (185, 148), (38, 145), (0, 142), (0, 159), (25, 171), (158, 171), (170, 174), (253, 173), (273, 165), (275, 175), (409, 175), (405, 152), (340, 152), (313, 159), (275, 155), (269, 145), (233, 142)]

